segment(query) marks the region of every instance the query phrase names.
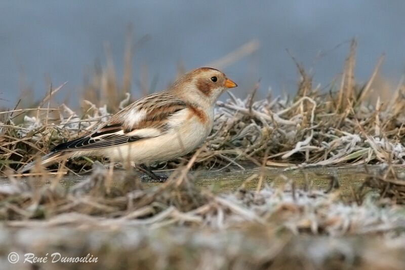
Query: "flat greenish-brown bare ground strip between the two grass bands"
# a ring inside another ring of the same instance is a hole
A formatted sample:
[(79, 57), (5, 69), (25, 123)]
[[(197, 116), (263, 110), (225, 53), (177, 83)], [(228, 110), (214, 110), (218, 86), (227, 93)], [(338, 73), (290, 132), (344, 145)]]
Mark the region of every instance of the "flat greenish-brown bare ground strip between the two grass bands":
[[(367, 171), (374, 173), (379, 170), (379, 166), (368, 166)], [(398, 172), (405, 172), (405, 168), (395, 168)], [(124, 171), (116, 170), (116, 173)], [(170, 171), (157, 171), (157, 174), (169, 175)], [(254, 174), (257, 177), (252, 178)], [(77, 182), (83, 181), (89, 174), (75, 175), (69, 174), (61, 179), (62, 185), (70, 187)], [(248, 189), (256, 189), (259, 183), (259, 177), (263, 176), (263, 184), (282, 186), (291, 180), (294, 180), (298, 188), (304, 185), (310, 185), (316, 189), (328, 189), (331, 185), (331, 178), (339, 180), (339, 185), (343, 194), (350, 194), (352, 188), (361, 185), (367, 176), (364, 166), (357, 167), (316, 167), (302, 170), (285, 171), (284, 168), (250, 168), (246, 170), (230, 169), (225, 170), (197, 170), (190, 171), (188, 176), (193, 179), (198, 186), (209, 187), (214, 192), (233, 191), (245, 183)], [(161, 183), (150, 182), (149, 178), (142, 176), (146, 187), (160, 185)], [(252, 178), (250, 181), (247, 179)], [(23, 178), (24, 179), (24, 178)], [(29, 178), (25, 178), (27, 181)], [(0, 178), (0, 183), (9, 183), (7, 178)], [(48, 183), (49, 184), (49, 183)]]

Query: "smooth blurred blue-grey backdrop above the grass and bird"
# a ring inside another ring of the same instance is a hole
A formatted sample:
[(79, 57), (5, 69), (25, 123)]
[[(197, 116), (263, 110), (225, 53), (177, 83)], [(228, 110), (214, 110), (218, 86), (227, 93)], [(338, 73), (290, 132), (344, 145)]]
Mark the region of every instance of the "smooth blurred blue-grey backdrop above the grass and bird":
[(356, 78), (366, 81), (385, 54), (381, 74), (395, 85), (405, 71), (404, 15), (403, 0), (2, 1), (0, 106), (27, 90), (40, 100), (64, 82), (56, 100), (78, 104), (107, 56), (123, 78), (128, 40), (135, 97), (145, 84), (161, 90), (179, 70), (207, 65), (237, 82), (240, 97), (259, 80), (261, 95), (292, 93), (298, 73), (288, 51), (326, 87), (353, 37)]

